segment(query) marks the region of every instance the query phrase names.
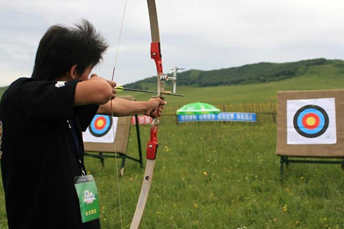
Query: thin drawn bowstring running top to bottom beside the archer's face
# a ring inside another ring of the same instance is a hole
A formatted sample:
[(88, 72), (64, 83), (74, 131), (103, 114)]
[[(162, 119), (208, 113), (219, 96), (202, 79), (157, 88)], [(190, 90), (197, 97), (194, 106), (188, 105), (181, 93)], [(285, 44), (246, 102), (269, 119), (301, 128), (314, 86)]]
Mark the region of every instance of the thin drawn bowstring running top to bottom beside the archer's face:
[[(122, 14), (122, 21), (120, 23), (120, 34), (118, 34), (118, 43), (116, 47), (116, 56), (115, 56), (115, 61), (114, 61), (114, 69), (112, 70), (112, 77), (111, 81), (114, 81), (114, 76), (115, 76), (115, 69), (116, 69), (116, 63), (117, 63), (117, 57), (118, 57), (118, 52), (119, 52), (119, 47), (120, 47), (120, 38), (122, 36), (122, 29), (123, 29), (123, 24), (125, 21), (125, 10), (127, 9), (127, 0), (125, 0), (125, 6)], [(112, 108), (112, 100), (110, 100), (110, 108), (111, 108), (111, 117), (114, 117), (114, 109)], [(115, 136), (115, 129), (114, 129), (114, 122), (112, 123), (112, 131)], [(115, 140), (115, 139), (114, 139)], [(119, 174), (118, 174), (118, 162), (117, 162), (117, 153), (116, 153), (116, 143), (114, 144), (114, 149), (115, 149), (115, 161), (116, 161), (116, 177), (117, 177), (117, 190), (118, 190), (118, 206), (120, 208), (120, 228), (123, 228), (123, 221), (122, 221), (122, 205), (120, 203), (120, 179), (119, 179)]]

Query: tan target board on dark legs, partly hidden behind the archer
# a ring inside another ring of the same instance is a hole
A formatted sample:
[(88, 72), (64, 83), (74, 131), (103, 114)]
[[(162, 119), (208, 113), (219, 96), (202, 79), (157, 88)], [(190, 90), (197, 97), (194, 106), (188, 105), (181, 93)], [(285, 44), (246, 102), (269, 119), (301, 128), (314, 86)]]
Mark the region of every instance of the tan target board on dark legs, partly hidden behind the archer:
[[(132, 96), (118, 96), (118, 98), (135, 100)], [(103, 115), (94, 116), (87, 131), (83, 133), (85, 156), (98, 158), (102, 166), (104, 166), (105, 158), (121, 158), (120, 175), (124, 174), (125, 160), (127, 158), (140, 163), (140, 167), (143, 168), (138, 116), (136, 115), (135, 118), (138, 158), (127, 155), (131, 116), (118, 118)]]

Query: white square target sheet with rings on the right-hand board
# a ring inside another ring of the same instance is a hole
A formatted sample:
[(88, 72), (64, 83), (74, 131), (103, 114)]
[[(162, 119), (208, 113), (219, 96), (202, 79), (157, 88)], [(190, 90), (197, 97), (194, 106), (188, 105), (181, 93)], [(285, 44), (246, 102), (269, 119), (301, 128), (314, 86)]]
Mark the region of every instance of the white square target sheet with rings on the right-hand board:
[(335, 144), (334, 98), (287, 100), (287, 144)]

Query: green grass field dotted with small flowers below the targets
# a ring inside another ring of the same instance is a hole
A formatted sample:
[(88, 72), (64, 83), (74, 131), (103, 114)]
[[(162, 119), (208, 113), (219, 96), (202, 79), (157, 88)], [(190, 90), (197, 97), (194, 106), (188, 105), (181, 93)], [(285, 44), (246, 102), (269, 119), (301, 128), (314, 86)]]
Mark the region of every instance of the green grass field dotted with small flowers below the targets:
[[(143, 149), (149, 127), (141, 127)], [(129, 155), (137, 156), (131, 130)], [(338, 165), (290, 164), (279, 174), (275, 124), (160, 126), (151, 193), (140, 228), (344, 228)], [(120, 228), (115, 160), (86, 158), (104, 229)], [(118, 160), (118, 163), (120, 161)], [(123, 228), (136, 208), (143, 169), (127, 160), (120, 178)], [(0, 188), (0, 228), (6, 228)]]

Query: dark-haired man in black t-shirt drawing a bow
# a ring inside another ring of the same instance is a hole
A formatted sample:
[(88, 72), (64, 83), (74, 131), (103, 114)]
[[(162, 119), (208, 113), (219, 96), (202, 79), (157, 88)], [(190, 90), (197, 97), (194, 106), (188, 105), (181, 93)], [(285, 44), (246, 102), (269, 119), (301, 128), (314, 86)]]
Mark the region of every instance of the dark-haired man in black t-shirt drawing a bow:
[(122, 100), (116, 83), (89, 77), (106, 49), (88, 21), (54, 25), (39, 43), (32, 77), (3, 94), (1, 173), (10, 229), (100, 228), (99, 219), (82, 222), (74, 187), (86, 171), (81, 131), (96, 113), (161, 116), (160, 98)]

